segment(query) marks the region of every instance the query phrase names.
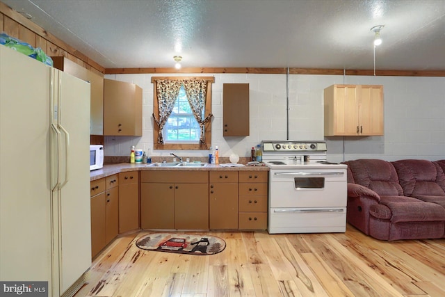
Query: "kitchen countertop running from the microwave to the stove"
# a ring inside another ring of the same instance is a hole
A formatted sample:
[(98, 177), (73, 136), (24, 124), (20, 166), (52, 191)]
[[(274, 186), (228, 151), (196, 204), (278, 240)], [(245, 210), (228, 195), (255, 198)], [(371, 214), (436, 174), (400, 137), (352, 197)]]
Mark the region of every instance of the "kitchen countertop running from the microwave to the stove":
[(102, 177), (108, 177), (109, 175), (115, 175), (119, 172), (127, 172), (127, 171), (143, 171), (143, 170), (175, 170), (175, 171), (190, 171), (190, 170), (227, 170), (227, 171), (268, 171), (269, 168), (267, 166), (243, 166), (243, 167), (224, 167), (221, 165), (215, 164), (207, 164), (204, 167), (156, 167), (149, 166), (147, 163), (118, 163), (118, 164), (109, 164), (104, 165), (104, 168), (92, 170), (90, 171), (90, 181), (101, 179)]

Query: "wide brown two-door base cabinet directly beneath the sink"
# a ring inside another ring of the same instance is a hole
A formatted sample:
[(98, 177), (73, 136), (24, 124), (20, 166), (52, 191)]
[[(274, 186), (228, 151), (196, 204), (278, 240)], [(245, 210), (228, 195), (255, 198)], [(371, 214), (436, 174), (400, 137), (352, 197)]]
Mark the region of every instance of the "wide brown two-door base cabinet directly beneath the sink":
[(209, 172), (140, 172), (140, 227), (209, 229)]

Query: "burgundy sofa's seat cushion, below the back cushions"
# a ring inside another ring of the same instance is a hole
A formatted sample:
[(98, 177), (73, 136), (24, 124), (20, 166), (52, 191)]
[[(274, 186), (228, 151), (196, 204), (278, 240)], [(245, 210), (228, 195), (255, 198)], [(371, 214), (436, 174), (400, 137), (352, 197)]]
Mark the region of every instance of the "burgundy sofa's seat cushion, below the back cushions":
[(380, 204), (391, 210), (391, 223), (445, 220), (444, 207), (412, 197), (380, 196)]

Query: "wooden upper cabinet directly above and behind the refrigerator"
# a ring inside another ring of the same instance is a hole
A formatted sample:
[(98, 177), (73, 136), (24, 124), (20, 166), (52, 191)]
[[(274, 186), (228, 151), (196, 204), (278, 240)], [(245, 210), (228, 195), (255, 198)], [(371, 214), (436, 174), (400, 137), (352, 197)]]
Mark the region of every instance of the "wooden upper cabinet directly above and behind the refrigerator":
[(103, 135), (104, 134), (104, 77), (91, 72), (79, 64), (68, 60), (65, 57), (51, 57), (54, 62), (54, 67), (62, 70), (73, 77), (90, 82), (91, 97), (90, 97), (90, 134)]

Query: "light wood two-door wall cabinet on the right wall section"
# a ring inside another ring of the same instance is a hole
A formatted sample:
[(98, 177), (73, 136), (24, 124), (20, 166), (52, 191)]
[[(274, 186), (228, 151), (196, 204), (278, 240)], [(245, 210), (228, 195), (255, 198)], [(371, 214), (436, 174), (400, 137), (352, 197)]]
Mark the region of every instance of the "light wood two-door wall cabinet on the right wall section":
[(383, 135), (383, 86), (325, 88), (325, 136)]

